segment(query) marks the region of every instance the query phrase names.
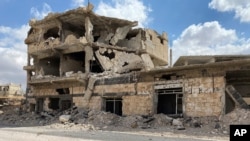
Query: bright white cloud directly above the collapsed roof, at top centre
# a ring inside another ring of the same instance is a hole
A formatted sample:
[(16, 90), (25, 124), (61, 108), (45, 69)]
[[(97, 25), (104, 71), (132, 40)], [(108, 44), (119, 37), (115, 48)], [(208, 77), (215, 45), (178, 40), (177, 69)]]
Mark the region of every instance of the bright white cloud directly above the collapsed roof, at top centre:
[(138, 21), (139, 27), (145, 27), (150, 22), (148, 14), (151, 11), (150, 7), (145, 6), (141, 0), (112, 0), (112, 3), (109, 4), (101, 1), (97, 6), (96, 13)]

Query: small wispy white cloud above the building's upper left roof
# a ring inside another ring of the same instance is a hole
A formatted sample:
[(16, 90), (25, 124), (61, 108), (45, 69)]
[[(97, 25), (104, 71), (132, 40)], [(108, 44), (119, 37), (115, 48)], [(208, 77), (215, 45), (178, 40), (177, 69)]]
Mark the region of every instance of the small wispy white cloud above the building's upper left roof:
[(36, 19), (42, 19), (45, 16), (48, 15), (48, 13), (52, 12), (52, 8), (50, 7), (50, 5), (48, 5), (47, 3), (43, 4), (43, 8), (41, 11), (39, 11), (37, 8), (32, 7), (30, 10), (30, 14), (32, 16), (34, 16), (34, 18)]

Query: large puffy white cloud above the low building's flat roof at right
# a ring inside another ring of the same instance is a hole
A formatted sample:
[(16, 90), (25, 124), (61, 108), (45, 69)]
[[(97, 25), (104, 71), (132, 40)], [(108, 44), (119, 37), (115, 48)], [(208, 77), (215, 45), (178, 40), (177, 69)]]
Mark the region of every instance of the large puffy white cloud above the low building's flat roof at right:
[(212, 21), (190, 25), (173, 41), (172, 49), (173, 61), (184, 55), (250, 54), (250, 39)]

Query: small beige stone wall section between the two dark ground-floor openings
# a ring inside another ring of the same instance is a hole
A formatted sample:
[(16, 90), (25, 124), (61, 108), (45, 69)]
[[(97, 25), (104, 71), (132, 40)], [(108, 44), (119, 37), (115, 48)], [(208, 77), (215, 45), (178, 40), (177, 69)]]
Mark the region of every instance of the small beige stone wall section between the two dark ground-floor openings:
[(152, 115), (152, 95), (131, 95), (122, 97), (122, 113), (128, 115)]

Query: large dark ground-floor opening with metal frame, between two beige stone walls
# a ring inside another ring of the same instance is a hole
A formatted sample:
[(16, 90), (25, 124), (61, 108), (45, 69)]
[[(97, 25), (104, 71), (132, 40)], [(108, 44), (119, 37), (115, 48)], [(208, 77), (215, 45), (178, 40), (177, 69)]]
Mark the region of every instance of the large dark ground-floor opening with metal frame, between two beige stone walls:
[(157, 113), (182, 114), (182, 88), (156, 90), (158, 94)]

